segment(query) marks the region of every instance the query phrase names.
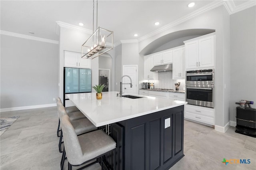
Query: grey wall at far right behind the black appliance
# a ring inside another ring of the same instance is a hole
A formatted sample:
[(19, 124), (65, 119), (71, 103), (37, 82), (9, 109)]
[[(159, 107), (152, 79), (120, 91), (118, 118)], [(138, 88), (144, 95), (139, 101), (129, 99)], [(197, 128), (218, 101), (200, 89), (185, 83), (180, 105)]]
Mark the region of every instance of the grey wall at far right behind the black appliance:
[[(236, 121), (235, 102), (256, 103), (256, 7), (230, 15), (230, 121)], [(256, 108), (256, 104), (252, 105)]]

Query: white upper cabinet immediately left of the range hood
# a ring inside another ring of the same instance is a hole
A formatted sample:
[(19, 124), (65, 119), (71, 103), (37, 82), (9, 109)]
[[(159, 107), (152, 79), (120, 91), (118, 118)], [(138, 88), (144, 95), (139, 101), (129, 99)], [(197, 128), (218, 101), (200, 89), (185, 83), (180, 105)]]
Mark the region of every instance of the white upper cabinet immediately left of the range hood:
[(158, 73), (150, 71), (154, 67), (153, 55), (144, 56), (144, 79), (158, 79)]

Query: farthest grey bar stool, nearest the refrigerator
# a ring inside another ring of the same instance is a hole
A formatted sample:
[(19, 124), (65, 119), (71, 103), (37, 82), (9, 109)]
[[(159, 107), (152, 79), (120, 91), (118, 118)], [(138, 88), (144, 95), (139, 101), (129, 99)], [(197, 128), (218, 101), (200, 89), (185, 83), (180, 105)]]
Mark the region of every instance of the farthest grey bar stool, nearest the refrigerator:
[[(57, 108), (60, 106), (63, 106), (63, 104), (60, 100), (60, 97), (57, 97), (56, 103), (57, 103)], [(78, 119), (85, 118), (84, 114), (82, 112), (80, 112), (76, 106), (66, 107), (65, 109), (66, 109), (66, 112), (68, 113), (71, 120), (78, 120)], [(57, 128), (57, 136), (58, 137), (60, 137), (59, 132), (60, 132), (60, 119), (59, 119), (58, 128)]]

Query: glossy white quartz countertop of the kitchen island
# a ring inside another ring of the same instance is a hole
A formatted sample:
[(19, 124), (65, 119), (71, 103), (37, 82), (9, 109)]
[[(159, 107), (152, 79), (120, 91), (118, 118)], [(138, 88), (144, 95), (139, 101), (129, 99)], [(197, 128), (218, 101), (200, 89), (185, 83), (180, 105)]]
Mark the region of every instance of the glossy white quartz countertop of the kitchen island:
[(139, 99), (117, 97), (116, 93), (118, 92), (102, 92), (100, 100), (96, 99), (96, 93), (74, 93), (66, 96), (96, 127), (187, 104), (185, 101), (142, 95), (133, 95), (143, 97)]

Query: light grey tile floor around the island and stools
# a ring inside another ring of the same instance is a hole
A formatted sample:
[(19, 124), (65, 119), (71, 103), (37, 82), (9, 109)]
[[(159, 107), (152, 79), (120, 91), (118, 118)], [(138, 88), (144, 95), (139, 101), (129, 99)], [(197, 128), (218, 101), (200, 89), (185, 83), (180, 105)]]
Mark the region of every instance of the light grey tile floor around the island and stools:
[[(58, 114), (56, 107), (2, 112), (20, 116), (0, 137), (1, 170), (59, 170)], [(194, 122), (184, 123), (184, 154), (170, 170), (256, 170), (256, 138), (217, 132)], [(222, 164), (226, 159), (250, 159), (250, 164)], [(67, 161), (64, 165), (68, 169)], [(75, 169), (75, 168), (74, 168)], [(100, 170), (94, 164), (86, 170)]]

